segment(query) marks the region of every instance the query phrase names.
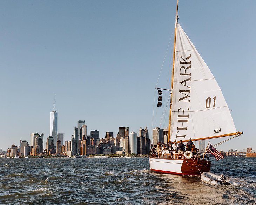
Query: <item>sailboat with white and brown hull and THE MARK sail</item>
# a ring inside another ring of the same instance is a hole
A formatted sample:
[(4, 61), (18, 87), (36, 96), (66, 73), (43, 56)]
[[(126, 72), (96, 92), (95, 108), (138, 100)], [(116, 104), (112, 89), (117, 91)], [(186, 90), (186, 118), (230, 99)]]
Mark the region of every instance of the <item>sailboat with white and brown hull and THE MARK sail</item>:
[[(178, 23), (178, 0), (170, 91), (168, 142), (243, 134), (236, 131), (218, 83)], [(165, 150), (160, 156), (151, 151), (149, 164), (151, 171), (178, 175), (201, 175), (211, 168), (209, 157), (178, 154), (175, 150)]]

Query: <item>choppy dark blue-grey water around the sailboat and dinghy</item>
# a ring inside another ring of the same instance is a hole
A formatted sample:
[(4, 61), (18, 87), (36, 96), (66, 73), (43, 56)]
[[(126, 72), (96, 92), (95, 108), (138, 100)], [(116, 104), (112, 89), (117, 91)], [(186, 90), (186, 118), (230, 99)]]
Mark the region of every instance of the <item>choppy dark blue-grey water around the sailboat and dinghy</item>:
[(212, 158), (240, 183), (157, 174), (148, 158), (0, 159), (0, 204), (256, 204), (256, 158)]

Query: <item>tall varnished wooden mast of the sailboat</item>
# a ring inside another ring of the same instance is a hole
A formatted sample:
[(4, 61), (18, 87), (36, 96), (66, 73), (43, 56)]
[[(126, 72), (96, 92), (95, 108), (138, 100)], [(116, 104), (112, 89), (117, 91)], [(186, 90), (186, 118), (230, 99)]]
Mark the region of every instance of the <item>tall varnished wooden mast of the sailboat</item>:
[[(175, 61), (177, 23), (178, 23), (178, 0), (177, 0), (177, 9), (176, 9), (175, 34), (174, 34), (174, 46), (173, 46), (173, 72), (172, 72), (172, 75), (171, 75), (171, 90), (173, 90), (173, 73), (174, 73), (174, 61)], [(173, 91), (171, 91), (169, 129), (168, 129), (167, 143), (170, 141), (170, 134), (171, 134), (171, 102), (172, 102), (172, 100), (173, 100)]]

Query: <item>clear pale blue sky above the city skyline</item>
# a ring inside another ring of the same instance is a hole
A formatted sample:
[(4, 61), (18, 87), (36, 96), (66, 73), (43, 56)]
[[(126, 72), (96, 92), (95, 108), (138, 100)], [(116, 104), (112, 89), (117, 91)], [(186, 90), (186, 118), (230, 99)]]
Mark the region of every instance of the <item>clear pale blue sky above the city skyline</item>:
[[(179, 3), (179, 23), (244, 131), (218, 148), (224, 151), (256, 149), (255, 9), (252, 0)], [(151, 130), (175, 10), (176, 0), (0, 1), (0, 148), (30, 141), (30, 133), (49, 136), (54, 94), (65, 140), (77, 120), (100, 137), (126, 125), (136, 133), (141, 126)], [(171, 39), (162, 80), (172, 49)], [(169, 88), (165, 80), (160, 86)]]

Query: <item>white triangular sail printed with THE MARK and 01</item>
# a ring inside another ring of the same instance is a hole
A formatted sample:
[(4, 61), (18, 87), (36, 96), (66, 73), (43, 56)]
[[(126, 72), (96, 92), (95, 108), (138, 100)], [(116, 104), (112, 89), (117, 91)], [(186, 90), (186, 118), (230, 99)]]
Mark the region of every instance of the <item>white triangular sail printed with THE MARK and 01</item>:
[(171, 141), (236, 132), (220, 87), (179, 24), (173, 78)]

